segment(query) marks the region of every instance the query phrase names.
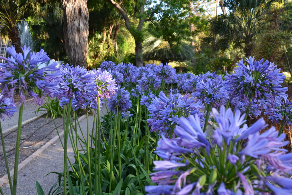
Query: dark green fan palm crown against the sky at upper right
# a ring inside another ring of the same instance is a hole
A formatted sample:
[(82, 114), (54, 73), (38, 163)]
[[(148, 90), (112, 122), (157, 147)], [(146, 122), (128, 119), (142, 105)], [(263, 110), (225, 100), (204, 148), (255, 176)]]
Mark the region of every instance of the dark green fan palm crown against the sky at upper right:
[(229, 11), (210, 20), (211, 36), (205, 41), (211, 43), (215, 50), (225, 51), (233, 46), (250, 56), (260, 31), (261, 17), (275, 2), (277, 0), (223, 0)]

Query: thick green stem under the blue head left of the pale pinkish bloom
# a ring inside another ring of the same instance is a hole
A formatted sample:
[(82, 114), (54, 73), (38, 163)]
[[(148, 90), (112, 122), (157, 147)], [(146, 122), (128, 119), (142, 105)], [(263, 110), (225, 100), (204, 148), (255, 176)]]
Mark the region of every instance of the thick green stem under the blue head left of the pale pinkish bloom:
[[(71, 105), (72, 105), (72, 98), (69, 99), (68, 103), (68, 111), (67, 111), (67, 119), (66, 119), (66, 128), (64, 131), (64, 194), (67, 194), (67, 141), (68, 141), (68, 134), (69, 134), (69, 121), (70, 121), (70, 113), (71, 113)], [(16, 194), (13, 194), (16, 195)]]

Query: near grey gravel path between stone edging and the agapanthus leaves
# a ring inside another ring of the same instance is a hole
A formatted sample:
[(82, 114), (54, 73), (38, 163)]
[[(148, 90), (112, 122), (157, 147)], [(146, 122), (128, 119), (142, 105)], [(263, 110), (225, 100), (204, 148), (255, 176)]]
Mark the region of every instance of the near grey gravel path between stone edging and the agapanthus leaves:
[[(102, 107), (102, 111), (103, 113), (106, 113), (105, 106)], [(102, 112), (100, 114), (101, 116), (103, 116)], [(93, 118), (93, 116), (89, 116), (89, 131), (91, 131), (92, 129)], [(80, 121), (80, 126), (82, 130), (86, 130), (86, 118)], [(58, 128), (60, 132), (62, 131), (62, 129), (63, 127)], [(81, 136), (80, 131), (79, 135)], [(18, 173), (17, 195), (37, 195), (36, 181), (41, 184), (41, 187), (44, 189), (45, 194), (48, 194), (53, 184), (58, 181), (58, 175), (47, 175), (52, 171), (63, 172), (64, 150), (62, 148), (60, 140), (58, 140), (55, 144), (56, 145), (52, 145), (48, 149), (46, 149), (39, 157), (29, 163)], [(67, 154), (71, 162), (74, 163), (74, 153), (69, 137)], [(9, 184), (3, 185), (2, 190), (5, 195), (9, 195)]]

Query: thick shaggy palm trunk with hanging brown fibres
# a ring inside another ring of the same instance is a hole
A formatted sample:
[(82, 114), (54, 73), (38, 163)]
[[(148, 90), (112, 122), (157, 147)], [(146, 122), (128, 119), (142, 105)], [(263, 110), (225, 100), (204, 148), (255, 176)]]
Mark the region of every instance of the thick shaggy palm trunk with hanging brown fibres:
[(89, 34), (86, 3), (87, 0), (63, 0), (65, 46), (73, 65), (86, 66)]

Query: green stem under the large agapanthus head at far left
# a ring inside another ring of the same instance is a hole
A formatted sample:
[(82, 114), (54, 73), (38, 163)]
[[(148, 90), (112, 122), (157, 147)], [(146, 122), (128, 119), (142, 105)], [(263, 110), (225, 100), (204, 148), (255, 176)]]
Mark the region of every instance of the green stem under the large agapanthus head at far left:
[(18, 128), (17, 128), (17, 137), (16, 137), (16, 147), (15, 147), (15, 160), (14, 160), (14, 173), (13, 173), (13, 193), (12, 193), (12, 195), (16, 195), (22, 113), (23, 113), (23, 104), (19, 108), (19, 116), (18, 116)]

